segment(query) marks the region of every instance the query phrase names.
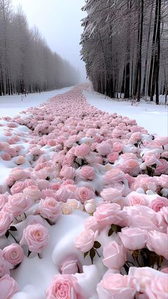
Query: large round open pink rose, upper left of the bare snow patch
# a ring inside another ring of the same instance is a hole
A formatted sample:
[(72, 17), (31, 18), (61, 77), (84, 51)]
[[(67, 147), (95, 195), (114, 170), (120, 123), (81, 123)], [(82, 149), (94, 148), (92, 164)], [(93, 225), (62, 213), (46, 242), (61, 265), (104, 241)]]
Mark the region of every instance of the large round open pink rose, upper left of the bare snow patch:
[(29, 251), (40, 253), (50, 239), (48, 229), (42, 224), (30, 224), (23, 229), (21, 245), (28, 245)]

